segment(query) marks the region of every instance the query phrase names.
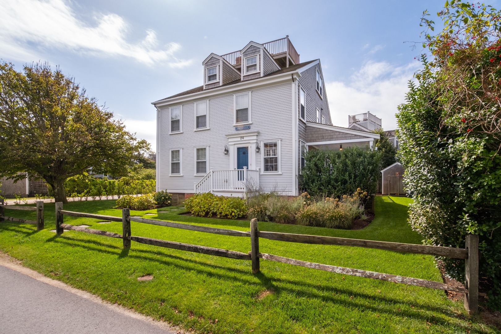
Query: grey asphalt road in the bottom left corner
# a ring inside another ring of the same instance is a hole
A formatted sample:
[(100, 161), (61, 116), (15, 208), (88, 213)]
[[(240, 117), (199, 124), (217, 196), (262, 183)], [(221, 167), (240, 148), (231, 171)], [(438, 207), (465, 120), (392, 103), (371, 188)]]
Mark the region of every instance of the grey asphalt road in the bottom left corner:
[(0, 333), (174, 334), (0, 265)]

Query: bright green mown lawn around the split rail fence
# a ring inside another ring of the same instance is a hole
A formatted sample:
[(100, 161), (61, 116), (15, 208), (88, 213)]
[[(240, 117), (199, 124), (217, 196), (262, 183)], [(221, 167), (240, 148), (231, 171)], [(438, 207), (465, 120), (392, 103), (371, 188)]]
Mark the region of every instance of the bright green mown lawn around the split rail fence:
[[(406, 223), (404, 197), (377, 197), (376, 219), (362, 230), (347, 231), (260, 222), (261, 230), (420, 243)], [(114, 200), (70, 202), (71, 211), (121, 216)], [(110, 302), (157, 319), (209, 333), (494, 333), (452, 302), (444, 291), (346, 276), (261, 260), (252, 274), (250, 261), (190, 253), (55, 228), (54, 203), (45, 204), (46, 228), (0, 223), (0, 250), (43, 274), (87, 290)], [(159, 209), (163, 211), (165, 209)], [(131, 211), (144, 216), (157, 210)], [(246, 231), (248, 221), (178, 215), (172, 210), (147, 215), (176, 222)], [(6, 214), (33, 219), (30, 211)], [(69, 224), (122, 233), (119, 222), (65, 216)], [(247, 252), (250, 240), (131, 222), (132, 235)], [(305, 261), (347, 266), (440, 281), (432, 256), (357, 247), (260, 240), (262, 252)], [(151, 281), (137, 277), (152, 274)], [(263, 298), (265, 290), (271, 291)], [(217, 319), (217, 322), (215, 322)]]

